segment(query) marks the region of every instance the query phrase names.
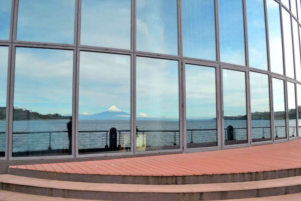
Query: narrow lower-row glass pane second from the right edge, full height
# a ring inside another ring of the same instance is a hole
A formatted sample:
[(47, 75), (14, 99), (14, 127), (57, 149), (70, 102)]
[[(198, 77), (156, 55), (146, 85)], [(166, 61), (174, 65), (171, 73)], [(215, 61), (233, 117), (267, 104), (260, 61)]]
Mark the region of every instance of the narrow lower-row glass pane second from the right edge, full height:
[(287, 82), (288, 126), (290, 137), (297, 136), (295, 84)]

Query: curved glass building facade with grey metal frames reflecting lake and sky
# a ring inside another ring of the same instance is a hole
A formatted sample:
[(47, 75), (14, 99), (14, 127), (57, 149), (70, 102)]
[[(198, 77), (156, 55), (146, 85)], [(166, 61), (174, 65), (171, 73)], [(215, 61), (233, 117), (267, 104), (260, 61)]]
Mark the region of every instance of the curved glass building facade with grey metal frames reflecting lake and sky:
[(300, 16), (300, 0), (1, 0), (0, 160), (299, 139)]

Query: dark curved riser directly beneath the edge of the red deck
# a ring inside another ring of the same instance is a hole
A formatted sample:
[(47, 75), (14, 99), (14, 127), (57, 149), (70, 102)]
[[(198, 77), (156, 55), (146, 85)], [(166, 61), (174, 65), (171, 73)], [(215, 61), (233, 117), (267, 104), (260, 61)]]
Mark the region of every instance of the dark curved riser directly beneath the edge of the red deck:
[(147, 185), (181, 185), (181, 184), (210, 184), (231, 183), (243, 181), (259, 181), (286, 178), (301, 175), (301, 168), (277, 171), (247, 172), (233, 174), (202, 174), (182, 176), (141, 176), (141, 175), (108, 175), (108, 174), (79, 174), (31, 169), (8, 168), (8, 174), (33, 177), (39, 179), (79, 181), (91, 183), (113, 184), (147, 184)]

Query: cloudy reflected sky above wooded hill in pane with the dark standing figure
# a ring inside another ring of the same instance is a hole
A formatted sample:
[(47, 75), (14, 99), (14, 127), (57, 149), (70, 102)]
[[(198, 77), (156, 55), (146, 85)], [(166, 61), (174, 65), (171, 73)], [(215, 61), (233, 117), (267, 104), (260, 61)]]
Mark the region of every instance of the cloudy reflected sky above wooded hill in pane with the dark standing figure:
[(72, 114), (73, 51), (16, 48), (14, 107)]

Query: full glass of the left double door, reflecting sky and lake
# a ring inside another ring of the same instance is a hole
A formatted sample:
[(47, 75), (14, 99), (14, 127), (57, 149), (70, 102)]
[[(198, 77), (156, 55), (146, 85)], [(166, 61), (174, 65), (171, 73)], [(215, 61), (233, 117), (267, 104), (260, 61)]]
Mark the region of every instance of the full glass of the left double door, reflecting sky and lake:
[(217, 146), (215, 68), (186, 64), (185, 77), (187, 148)]

